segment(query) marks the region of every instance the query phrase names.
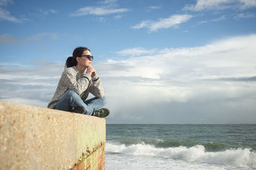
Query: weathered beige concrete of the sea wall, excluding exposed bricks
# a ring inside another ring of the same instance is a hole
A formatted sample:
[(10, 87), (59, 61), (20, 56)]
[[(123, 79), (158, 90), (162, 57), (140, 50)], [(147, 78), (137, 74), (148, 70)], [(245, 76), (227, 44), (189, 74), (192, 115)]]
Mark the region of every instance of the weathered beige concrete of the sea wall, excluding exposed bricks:
[(0, 169), (70, 169), (105, 141), (104, 118), (0, 102)]

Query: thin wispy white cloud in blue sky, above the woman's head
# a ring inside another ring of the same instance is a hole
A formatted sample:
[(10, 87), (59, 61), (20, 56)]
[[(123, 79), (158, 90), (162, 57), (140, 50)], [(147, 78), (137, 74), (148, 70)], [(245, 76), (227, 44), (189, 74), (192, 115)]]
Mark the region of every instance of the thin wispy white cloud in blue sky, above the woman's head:
[(83, 15), (109, 15), (113, 13), (124, 13), (129, 11), (126, 8), (105, 8), (105, 7), (93, 7), (87, 6), (85, 8), (78, 9), (75, 13), (72, 13), (70, 16), (77, 17)]

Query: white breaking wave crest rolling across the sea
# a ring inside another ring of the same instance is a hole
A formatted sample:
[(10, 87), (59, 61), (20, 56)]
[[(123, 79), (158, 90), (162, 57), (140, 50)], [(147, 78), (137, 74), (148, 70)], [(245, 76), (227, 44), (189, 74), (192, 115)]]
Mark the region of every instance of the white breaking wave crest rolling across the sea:
[(117, 143), (106, 143), (106, 153), (124, 153), (130, 155), (148, 155), (170, 159), (182, 159), (189, 162), (221, 164), (236, 167), (256, 168), (256, 153), (249, 148), (229, 149), (223, 152), (205, 152), (202, 145), (192, 147), (156, 148), (145, 143), (125, 146)]

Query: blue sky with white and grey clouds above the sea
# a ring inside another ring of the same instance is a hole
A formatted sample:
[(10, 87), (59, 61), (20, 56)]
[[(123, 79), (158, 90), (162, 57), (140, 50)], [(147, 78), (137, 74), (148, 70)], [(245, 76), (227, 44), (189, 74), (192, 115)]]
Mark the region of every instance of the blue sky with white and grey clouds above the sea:
[(1, 101), (46, 108), (86, 46), (107, 124), (256, 124), (256, 0), (0, 0), (0, 25)]

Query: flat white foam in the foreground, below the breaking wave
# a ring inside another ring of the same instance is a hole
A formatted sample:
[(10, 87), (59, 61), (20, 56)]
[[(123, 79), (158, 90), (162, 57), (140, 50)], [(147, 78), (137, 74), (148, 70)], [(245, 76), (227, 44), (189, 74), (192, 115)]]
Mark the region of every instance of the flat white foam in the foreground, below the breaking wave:
[(188, 162), (186, 160), (166, 159), (162, 157), (149, 157), (147, 155), (128, 155), (122, 153), (106, 153), (105, 155), (106, 170), (227, 170), (235, 169), (218, 164), (206, 164), (200, 162)]

